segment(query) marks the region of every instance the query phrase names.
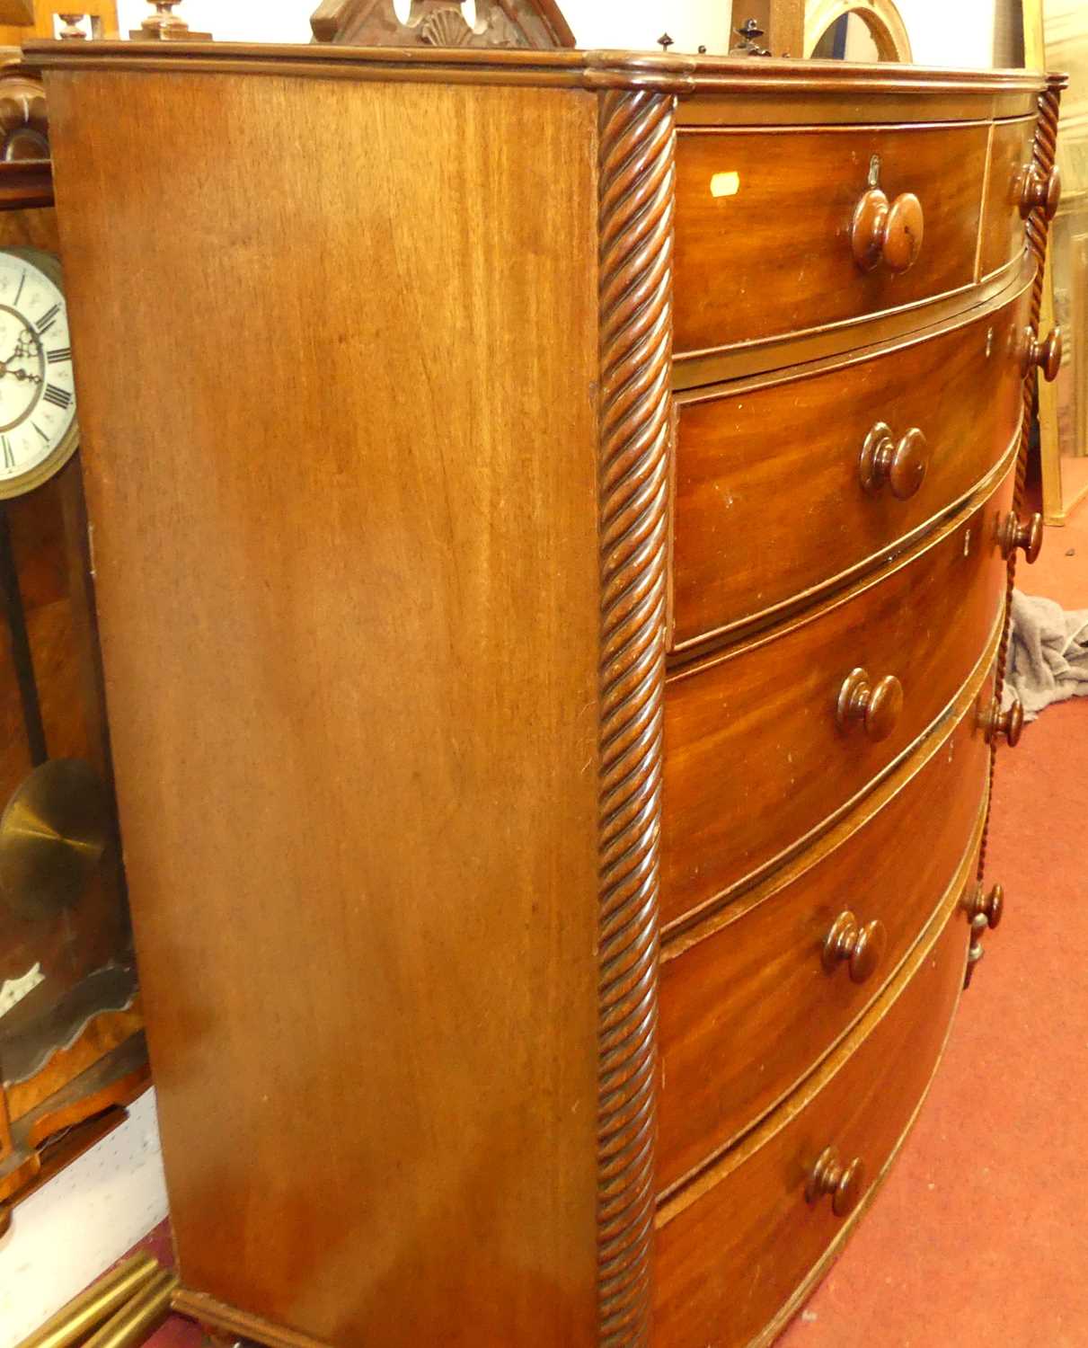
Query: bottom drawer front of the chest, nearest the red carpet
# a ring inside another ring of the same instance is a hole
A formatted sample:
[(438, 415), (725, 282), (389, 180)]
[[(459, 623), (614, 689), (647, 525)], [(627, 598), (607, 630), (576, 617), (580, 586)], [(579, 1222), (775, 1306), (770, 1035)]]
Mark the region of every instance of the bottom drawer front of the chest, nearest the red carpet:
[[(964, 976), (952, 915), (909, 976), (798, 1099), (659, 1212), (654, 1328), (670, 1348), (739, 1348), (786, 1308), (849, 1220), (805, 1190), (826, 1147), (864, 1166), (864, 1196), (924, 1097)], [(897, 995), (898, 993), (898, 995)]]

